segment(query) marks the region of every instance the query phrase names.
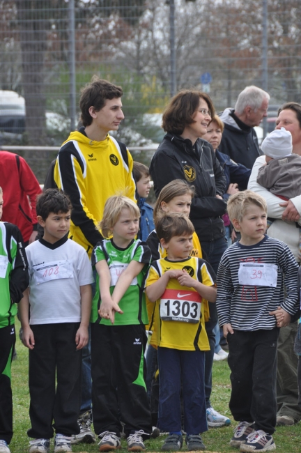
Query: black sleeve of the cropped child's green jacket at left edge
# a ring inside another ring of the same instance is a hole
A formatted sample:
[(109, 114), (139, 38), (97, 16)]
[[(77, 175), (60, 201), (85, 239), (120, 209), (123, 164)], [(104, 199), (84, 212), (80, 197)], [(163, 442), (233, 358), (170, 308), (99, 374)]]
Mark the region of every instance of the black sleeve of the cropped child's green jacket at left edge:
[(29, 286), (29, 270), (26, 252), (20, 230), (13, 224), (6, 224), (8, 238), (13, 236), (16, 241), (15, 253), (10, 252), (8, 259), (13, 263), (13, 270), (10, 272), (10, 298), (12, 302), (18, 303), (23, 297), (23, 291)]

